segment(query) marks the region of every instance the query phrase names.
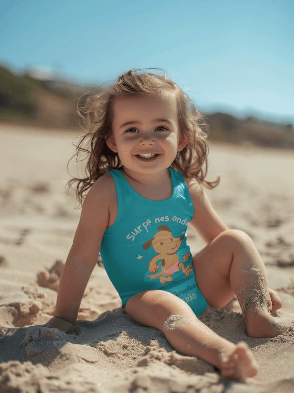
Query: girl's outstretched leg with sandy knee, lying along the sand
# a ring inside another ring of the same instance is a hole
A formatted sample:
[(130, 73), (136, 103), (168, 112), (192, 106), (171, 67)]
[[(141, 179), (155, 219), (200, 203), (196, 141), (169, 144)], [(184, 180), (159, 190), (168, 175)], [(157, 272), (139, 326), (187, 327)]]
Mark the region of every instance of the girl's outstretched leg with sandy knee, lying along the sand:
[(163, 331), (176, 351), (206, 360), (220, 369), (225, 378), (253, 377), (257, 373), (257, 364), (245, 343), (235, 345), (218, 336), (172, 293), (138, 293), (129, 299), (125, 309), (141, 325)]

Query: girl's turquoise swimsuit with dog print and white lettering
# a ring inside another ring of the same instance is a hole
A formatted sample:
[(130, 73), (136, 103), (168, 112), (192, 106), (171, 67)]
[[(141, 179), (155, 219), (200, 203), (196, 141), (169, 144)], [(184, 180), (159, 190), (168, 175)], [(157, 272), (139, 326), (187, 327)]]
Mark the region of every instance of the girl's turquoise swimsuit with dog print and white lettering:
[(115, 181), (118, 215), (106, 229), (101, 256), (123, 306), (135, 294), (161, 289), (181, 298), (196, 316), (207, 308), (186, 243), (187, 225), (194, 214), (183, 176), (169, 168), (172, 196), (153, 201), (139, 195), (118, 170)]

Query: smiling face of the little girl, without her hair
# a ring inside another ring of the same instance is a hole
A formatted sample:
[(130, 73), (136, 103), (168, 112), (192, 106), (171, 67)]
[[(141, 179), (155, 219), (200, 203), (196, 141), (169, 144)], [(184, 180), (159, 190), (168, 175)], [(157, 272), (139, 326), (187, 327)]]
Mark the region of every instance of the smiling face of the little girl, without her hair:
[(108, 147), (118, 153), (130, 176), (164, 173), (186, 142), (181, 136), (175, 98), (117, 97)]

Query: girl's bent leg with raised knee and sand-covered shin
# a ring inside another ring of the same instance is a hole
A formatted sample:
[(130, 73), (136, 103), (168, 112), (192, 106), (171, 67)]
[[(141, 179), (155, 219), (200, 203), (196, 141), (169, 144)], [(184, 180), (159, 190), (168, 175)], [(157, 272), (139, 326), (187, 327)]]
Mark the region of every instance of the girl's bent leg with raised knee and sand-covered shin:
[(237, 296), (248, 336), (276, 337), (283, 326), (269, 314), (268, 279), (251, 238), (226, 230), (193, 258), (196, 282), (208, 304), (225, 307)]

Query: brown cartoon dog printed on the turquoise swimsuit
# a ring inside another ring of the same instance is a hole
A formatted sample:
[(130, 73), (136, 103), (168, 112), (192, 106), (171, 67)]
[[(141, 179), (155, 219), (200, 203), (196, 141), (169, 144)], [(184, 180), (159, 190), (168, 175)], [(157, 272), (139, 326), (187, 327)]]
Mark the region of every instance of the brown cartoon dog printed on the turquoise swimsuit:
[[(161, 260), (162, 271), (157, 274), (152, 274), (149, 277), (154, 280), (160, 277), (159, 281), (162, 285), (165, 285), (166, 281), (173, 281), (173, 273), (178, 272), (182, 269), (185, 276), (189, 276), (192, 271), (192, 265), (188, 265), (185, 268), (184, 263), (190, 258), (191, 253), (187, 253), (183, 256), (183, 262), (180, 262), (179, 256), (176, 254), (180, 245), (184, 239), (184, 236), (173, 237), (170, 228), (167, 225), (160, 225), (157, 227), (160, 232), (157, 232), (154, 237), (147, 240), (143, 244), (144, 250), (147, 250), (151, 244), (159, 255), (154, 256), (149, 262), (150, 273), (156, 273), (159, 266), (156, 264), (157, 261)], [(165, 277), (167, 276), (167, 277)]]

